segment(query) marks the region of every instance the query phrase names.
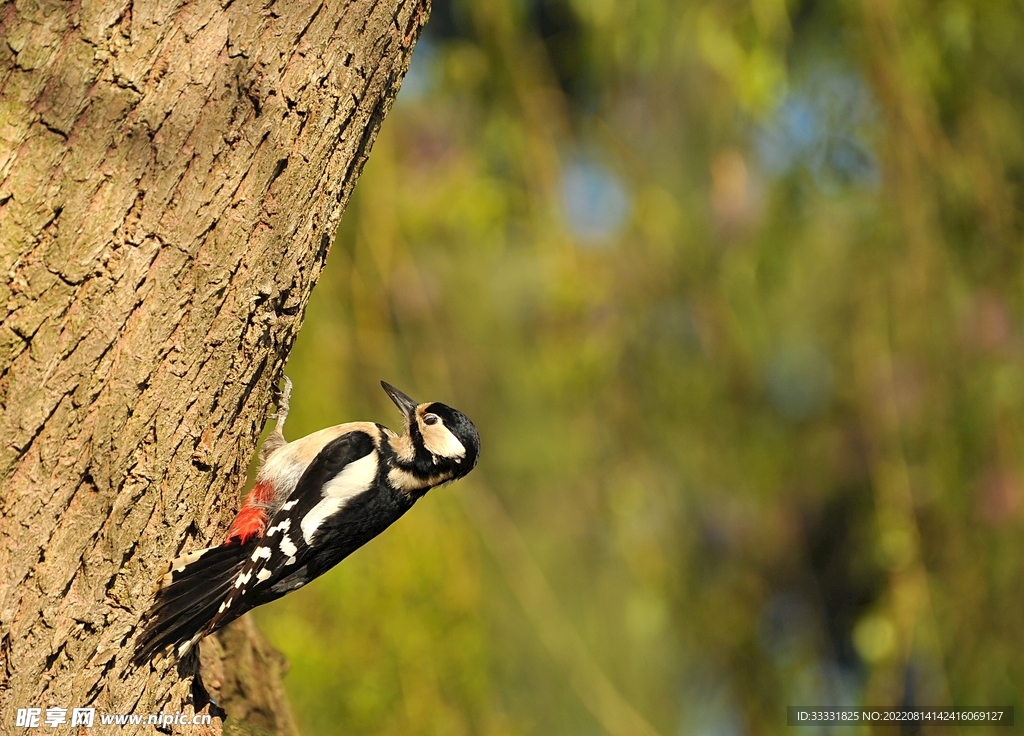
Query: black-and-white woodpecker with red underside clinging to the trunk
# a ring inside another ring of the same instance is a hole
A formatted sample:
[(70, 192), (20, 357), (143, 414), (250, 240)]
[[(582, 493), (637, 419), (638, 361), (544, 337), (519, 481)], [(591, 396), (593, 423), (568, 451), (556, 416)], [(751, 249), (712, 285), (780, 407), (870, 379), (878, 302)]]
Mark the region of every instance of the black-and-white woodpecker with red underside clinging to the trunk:
[(372, 422), (284, 436), (291, 382), (260, 451), (256, 485), (218, 547), (172, 561), (160, 576), (132, 661), (174, 645), (184, 655), (247, 611), (323, 575), (409, 511), (428, 490), (476, 465), (480, 437), (439, 402), (417, 403), (388, 383), (404, 418), (396, 434)]

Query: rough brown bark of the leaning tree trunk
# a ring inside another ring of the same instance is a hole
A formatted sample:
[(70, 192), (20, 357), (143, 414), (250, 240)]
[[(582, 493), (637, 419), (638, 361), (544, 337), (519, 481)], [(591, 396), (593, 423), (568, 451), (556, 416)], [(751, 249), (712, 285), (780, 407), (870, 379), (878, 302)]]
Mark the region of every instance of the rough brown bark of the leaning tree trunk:
[[(238, 508), (428, 6), (0, 3), (0, 732), (18, 707), (188, 709), (199, 664), (128, 647), (161, 564)], [(206, 684), (287, 732), (241, 623)]]

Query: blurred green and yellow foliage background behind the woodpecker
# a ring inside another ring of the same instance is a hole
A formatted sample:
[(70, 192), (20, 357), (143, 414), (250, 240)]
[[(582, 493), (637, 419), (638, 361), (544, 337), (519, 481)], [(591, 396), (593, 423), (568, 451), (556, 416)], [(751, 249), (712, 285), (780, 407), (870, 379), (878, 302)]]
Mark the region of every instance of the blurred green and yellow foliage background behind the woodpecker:
[(302, 731), (1020, 708), (1021, 38), (1009, 0), (436, 0), (289, 429), (397, 426), (386, 379), (482, 460), (256, 614)]

